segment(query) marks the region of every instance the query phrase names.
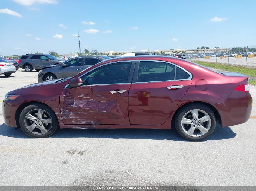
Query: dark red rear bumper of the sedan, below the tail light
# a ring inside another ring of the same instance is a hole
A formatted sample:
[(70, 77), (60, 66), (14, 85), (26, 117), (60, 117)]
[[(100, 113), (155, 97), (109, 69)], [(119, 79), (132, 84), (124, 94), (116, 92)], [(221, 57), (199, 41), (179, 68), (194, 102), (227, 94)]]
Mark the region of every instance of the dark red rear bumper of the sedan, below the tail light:
[(252, 97), (247, 92), (233, 91), (224, 103), (214, 106), (220, 113), (222, 127), (238, 125), (250, 119)]

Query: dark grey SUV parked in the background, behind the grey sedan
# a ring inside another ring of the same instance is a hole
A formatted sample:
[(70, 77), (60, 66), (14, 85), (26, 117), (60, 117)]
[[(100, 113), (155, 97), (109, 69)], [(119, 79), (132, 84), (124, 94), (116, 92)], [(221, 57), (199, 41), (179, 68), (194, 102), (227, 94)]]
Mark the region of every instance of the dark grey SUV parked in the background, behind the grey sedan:
[(18, 61), (19, 67), (25, 69), (26, 72), (41, 70), (45, 66), (57, 65), (66, 60), (58, 59), (51, 54), (26, 54)]

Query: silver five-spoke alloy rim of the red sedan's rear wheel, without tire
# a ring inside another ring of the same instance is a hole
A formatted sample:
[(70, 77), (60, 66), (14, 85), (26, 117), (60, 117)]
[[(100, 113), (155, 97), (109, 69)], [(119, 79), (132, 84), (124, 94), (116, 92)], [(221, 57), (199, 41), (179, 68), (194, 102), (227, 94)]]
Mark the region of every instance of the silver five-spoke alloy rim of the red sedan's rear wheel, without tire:
[(181, 127), (187, 135), (200, 137), (210, 129), (211, 118), (203, 110), (190, 110), (182, 117)]

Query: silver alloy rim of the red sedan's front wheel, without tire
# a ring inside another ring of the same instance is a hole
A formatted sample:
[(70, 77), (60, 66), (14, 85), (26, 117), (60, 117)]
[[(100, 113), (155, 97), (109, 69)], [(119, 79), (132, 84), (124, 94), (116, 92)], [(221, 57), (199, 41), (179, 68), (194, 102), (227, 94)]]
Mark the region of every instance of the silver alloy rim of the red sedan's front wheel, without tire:
[(45, 110), (35, 109), (26, 114), (24, 123), (29, 132), (43, 135), (52, 128), (52, 117)]

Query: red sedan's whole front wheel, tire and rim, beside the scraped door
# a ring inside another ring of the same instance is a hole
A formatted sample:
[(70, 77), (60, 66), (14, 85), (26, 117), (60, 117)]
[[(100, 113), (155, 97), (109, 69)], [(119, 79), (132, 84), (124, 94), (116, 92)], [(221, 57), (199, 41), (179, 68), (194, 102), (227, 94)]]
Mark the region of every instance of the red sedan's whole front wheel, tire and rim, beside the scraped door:
[(23, 132), (33, 138), (49, 137), (58, 128), (55, 113), (40, 103), (25, 107), (20, 114), (19, 122)]

